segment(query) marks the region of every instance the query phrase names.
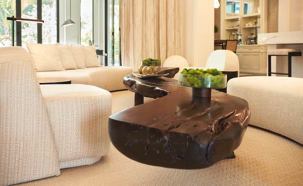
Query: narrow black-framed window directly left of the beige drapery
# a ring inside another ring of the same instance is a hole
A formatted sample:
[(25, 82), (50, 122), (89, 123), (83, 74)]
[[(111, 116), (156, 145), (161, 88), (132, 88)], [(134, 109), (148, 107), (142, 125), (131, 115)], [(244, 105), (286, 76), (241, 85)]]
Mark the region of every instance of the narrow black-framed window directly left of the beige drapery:
[(106, 45), (108, 66), (121, 65), (120, 0), (107, 0)]

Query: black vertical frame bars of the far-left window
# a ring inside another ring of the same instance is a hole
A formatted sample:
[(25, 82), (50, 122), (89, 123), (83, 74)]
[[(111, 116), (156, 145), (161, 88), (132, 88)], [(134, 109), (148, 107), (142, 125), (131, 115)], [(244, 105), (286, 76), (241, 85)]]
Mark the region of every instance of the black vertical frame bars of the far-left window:
[[(57, 42), (59, 43), (59, 0), (56, 2)], [(21, 0), (16, 0), (16, 17), (21, 18)], [(42, 0), (37, 0), (37, 19), (42, 19)], [(38, 43), (42, 44), (42, 23), (37, 23)], [(16, 46), (22, 46), (21, 22), (16, 21)]]

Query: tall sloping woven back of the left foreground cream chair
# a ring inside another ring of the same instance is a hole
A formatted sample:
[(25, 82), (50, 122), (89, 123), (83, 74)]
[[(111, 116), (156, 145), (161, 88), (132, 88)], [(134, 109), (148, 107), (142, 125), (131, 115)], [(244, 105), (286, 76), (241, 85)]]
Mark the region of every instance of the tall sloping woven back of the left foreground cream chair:
[(0, 47), (0, 185), (60, 175), (35, 69), (22, 47)]

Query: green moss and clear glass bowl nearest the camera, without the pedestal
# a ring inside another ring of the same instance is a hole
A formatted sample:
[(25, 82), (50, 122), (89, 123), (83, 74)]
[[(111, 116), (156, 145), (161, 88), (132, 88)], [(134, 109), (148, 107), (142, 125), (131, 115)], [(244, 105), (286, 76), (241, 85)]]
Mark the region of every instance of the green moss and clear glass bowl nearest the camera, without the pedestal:
[(197, 88), (225, 88), (226, 74), (215, 69), (183, 69), (179, 74), (178, 83)]

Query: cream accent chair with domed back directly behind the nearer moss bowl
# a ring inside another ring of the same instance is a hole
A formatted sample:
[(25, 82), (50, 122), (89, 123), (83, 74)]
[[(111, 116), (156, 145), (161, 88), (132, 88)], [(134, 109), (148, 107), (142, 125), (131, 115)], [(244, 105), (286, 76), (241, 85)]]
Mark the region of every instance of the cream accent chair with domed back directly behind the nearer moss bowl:
[(215, 50), (209, 55), (205, 67), (185, 67), (185, 68), (216, 68), (222, 71), (238, 71), (239, 77), (239, 59), (238, 56), (229, 50)]

